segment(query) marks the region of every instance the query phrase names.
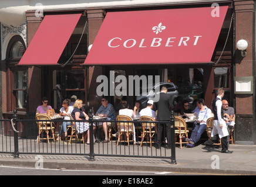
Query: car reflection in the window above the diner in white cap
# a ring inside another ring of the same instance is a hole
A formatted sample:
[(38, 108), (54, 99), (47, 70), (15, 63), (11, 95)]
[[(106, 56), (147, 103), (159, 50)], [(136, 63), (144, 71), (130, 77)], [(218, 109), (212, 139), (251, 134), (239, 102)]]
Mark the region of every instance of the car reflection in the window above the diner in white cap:
[[(161, 87), (162, 86), (167, 86), (168, 95), (172, 95), (173, 99), (177, 98), (178, 96), (178, 87), (173, 84), (173, 82), (159, 82), (158, 84), (154, 85), (153, 88), (150, 90), (150, 88), (141, 88), (141, 94), (136, 97), (136, 100), (142, 102), (142, 107), (145, 108), (147, 105), (147, 101), (149, 99), (153, 99), (156, 93), (160, 93)], [(147, 92), (142, 92), (146, 90)]]

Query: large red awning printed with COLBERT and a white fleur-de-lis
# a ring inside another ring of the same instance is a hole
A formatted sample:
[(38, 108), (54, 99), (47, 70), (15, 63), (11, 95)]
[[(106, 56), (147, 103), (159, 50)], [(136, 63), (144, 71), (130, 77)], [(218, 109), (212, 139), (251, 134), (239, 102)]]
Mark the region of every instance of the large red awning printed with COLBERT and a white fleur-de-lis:
[(209, 63), (228, 6), (218, 8), (108, 12), (84, 64)]

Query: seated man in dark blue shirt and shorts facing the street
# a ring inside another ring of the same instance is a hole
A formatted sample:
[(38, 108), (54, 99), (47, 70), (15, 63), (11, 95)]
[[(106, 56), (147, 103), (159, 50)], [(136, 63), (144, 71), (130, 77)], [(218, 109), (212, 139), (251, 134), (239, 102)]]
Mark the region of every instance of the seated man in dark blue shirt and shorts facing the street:
[[(108, 98), (102, 98), (102, 106), (97, 110), (95, 116), (107, 117), (107, 120), (116, 120), (116, 111), (114, 110), (114, 106), (109, 103)], [(111, 126), (111, 123), (107, 122), (99, 122), (99, 126), (103, 125), (103, 132), (105, 134), (105, 140), (103, 143), (109, 142), (107, 138), (107, 125)]]

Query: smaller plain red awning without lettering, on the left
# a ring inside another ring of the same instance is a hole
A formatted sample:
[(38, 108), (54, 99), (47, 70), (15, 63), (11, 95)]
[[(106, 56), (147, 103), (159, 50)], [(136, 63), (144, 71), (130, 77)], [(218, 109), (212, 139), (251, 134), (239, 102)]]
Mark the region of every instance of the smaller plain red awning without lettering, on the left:
[(80, 16), (46, 15), (19, 65), (56, 65)]

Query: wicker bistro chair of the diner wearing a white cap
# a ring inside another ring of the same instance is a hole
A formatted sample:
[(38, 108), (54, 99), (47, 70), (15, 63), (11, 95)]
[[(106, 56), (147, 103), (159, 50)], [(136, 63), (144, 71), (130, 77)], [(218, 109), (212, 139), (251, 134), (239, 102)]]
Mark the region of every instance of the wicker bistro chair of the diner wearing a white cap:
[[(143, 143), (150, 143), (150, 147), (152, 147), (152, 138), (155, 133), (157, 133), (156, 123), (149, 123), (154, 122), (154, 118), (150, 116), (142, 116), (140, 117), (140, 121), (142, 122), (142, 142), (140, 143), (140, 147), (142, 147)], [(144, 137), (146, 137), (146, 141), (144, 141)]]

